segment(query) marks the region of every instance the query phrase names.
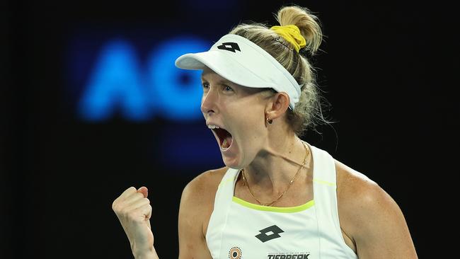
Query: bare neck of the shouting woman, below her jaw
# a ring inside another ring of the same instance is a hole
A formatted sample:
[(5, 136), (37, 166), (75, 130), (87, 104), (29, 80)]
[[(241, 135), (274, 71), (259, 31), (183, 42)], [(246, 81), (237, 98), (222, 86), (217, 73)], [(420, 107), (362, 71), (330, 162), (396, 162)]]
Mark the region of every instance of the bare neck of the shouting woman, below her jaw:
[[(308, 147), (295, 134), (275, 139), (268, 142), (251, 164), (244, 168), (251, 188), (263, 190), (268, 195), (278, 195), (286, 190), (306, 158), (306, 152), (309, 152), (306, 151)], [(301, 173), (304, 170), (300, 168), (296, 181), (306, 177)]]

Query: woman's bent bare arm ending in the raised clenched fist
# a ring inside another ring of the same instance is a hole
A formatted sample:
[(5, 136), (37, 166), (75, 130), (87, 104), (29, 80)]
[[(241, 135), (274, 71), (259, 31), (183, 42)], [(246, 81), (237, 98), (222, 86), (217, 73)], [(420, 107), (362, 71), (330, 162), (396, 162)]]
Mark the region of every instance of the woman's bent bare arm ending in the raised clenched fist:
[[(215, 174), (198, 175), (185, 186), (180, 198), (178, 231), (179, 259), (212, 259), (205, 240), (205, 219), (209, 218), (217, 190)], [(219, 183), (219, 182), (217, 182)], [(216, 185), (216, 186), (214, 186)], [(158, 259), (150, 229), (151, 206), (145, 187), (128, 188), (112, 205), (131, 244), (136, 259)]]

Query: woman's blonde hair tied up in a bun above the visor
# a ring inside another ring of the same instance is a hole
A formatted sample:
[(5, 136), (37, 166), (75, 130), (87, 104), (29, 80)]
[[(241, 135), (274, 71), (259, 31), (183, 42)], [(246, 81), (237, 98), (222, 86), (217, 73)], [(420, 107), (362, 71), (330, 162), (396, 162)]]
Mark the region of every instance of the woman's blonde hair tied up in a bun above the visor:
[[(321, 96), (316, 86), (315, 69), (311, 66), (306, 55), (313, 56), (321, 45), (323, 34), (318, 18), (309, 9), (301, 6), (282, 6), (275, 16), (280, 25), (297, 25), (306, 40), (306, 46), (297, 53), (287, 40), (270, 30), (263, 23), (241, 23), (230, 31), (230, 34), (240, 35), (262, 47), (275, 57), (301, 85), (301, 96), (294, 110), (287, 110), (287, 123), (295, 134), (301, 136), (305, 129), (312, 128), (321, 122), (328, 123), (323, 117)], [(274, 90), (265, 91), (273, 95)], [(316, 129), (315, 129), (316, 130)]]

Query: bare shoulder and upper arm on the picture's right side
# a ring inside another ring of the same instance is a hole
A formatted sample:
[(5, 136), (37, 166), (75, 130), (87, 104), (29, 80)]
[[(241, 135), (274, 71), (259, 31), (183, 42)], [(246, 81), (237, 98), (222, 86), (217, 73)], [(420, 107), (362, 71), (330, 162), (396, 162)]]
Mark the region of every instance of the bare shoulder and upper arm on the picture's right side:
[[(340, 227), (360, 258), (417, 258), (403, 212), (363, 173), (335, 161)], [(389, 175), (391, 177), (391, 175)]]

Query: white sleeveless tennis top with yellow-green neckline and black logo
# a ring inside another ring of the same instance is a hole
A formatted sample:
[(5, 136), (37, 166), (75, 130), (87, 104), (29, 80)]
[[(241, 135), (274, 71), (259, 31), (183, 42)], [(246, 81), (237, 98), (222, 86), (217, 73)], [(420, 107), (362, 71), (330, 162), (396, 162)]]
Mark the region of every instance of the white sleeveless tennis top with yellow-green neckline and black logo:
[(213, 259), (357, 258), (340, 231), (334, 159), (310, 149), (314, 200), (297, 207), (265, 207), (234, 197), (239, 170), (226, 171), (206, 233)]

